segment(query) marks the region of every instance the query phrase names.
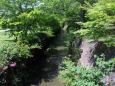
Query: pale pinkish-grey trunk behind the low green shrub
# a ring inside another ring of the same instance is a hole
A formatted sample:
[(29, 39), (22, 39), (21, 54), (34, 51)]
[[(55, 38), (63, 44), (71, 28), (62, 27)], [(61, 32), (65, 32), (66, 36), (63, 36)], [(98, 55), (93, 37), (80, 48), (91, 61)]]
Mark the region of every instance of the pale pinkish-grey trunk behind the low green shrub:
[(79, 59), (78, 66), (85, 66), (86, 68), (90, 68), (94, 64), (93, 55), (96, 52), (96, 47), (98, 46), (98, 42), (94, 42), (91, 39), (85, 39), (82, 41), (80, 45), (80, 49), (82, 50), (81, 58)]

